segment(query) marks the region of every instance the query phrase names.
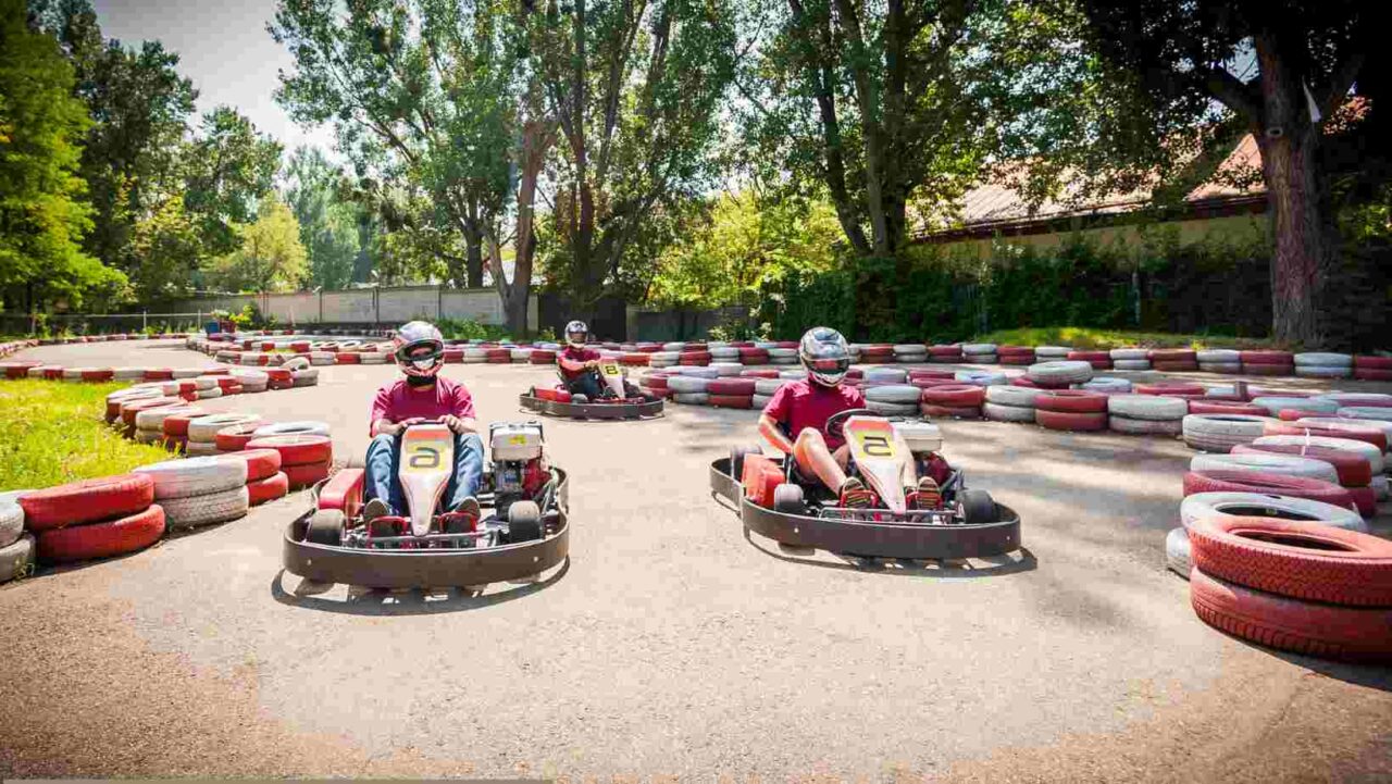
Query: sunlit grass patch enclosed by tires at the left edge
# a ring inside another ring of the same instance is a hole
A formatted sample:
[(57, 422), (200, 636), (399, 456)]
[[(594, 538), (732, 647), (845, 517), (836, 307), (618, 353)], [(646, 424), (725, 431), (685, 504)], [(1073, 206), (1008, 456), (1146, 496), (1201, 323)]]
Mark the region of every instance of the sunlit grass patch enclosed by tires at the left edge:
[(163, 447), (121, 437), (102, 419), (127, 383), (0, 380), (0, 490), (110, 476), (168, 460)]

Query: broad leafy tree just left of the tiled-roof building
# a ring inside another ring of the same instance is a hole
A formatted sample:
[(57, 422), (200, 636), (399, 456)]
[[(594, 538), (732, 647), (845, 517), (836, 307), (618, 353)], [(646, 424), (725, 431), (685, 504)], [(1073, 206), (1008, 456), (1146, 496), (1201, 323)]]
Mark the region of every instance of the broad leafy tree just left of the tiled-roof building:
[(745, 13), (750, 166), (825, 194), (857, 255), (898, 253), (912, 212), (942, 217), (988, 166), (1037, 153), (1087, 77), (1068, 19), (1025, 0), (753, 0)]

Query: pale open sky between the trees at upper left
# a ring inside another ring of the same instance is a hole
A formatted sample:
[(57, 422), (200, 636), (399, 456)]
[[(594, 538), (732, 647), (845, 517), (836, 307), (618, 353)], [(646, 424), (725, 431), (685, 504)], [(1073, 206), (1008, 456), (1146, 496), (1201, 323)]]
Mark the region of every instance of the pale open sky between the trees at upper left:
[(327, 127), (301, 128), (276, 104), (277, 71), (294, 60), (266, 32), (276, 0), (93, 0), (102, 33), (125, 45), (161, 40), (180, 56), (180, 72), (198, 89), (198, 110), (230, 104), (285, 150), (333, 149)]

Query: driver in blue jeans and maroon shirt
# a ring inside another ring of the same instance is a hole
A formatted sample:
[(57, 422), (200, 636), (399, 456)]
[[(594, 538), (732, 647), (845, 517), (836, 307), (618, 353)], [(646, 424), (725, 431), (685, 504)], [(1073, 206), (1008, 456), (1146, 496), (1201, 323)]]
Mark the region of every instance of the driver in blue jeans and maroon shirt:
[(445, 486), (450, 511), (479, 521), (479, 483), (483, 478), (483, 440), (473, 421), (473, 397), (459, 382), (440, 375), (444, 336), (429, 322), (411, 322), (397, 330), (393, 355), (404, 379), (377, 390), (372, 401), (372, 444), (363, 472), (363, 519), (405, 514), (397, 480), (401, 465), (401, 433), (412, 423), (438, 419), (454, 432), (454, 472)]

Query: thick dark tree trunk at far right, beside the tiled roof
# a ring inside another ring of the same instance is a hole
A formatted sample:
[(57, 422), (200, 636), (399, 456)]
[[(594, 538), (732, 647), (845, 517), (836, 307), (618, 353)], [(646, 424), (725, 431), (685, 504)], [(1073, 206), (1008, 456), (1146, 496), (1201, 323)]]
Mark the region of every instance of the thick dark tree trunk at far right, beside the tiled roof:
[(1257, 146), (1275, 234), (1272, 331), (1279, 341), (1317, 347), (1324, 337), (1318, 304), (1331, 260), (1315, 174), (1320, 130), (1276, 39), (1258, 35), (1256, 45), (1263, 103)]

